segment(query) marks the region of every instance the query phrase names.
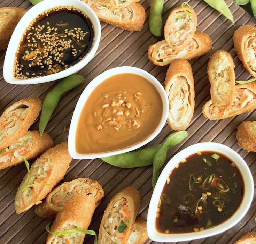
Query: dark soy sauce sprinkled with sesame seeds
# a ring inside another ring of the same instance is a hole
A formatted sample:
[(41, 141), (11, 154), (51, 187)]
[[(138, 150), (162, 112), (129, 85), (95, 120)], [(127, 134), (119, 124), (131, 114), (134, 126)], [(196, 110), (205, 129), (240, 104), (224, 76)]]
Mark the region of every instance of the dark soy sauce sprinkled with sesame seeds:
[(79, 62), (93, 44), (90, 20), (75, 7), (56, 7), (40, 14), (21, 40), (14, 65), (16, 78), (40, 77)]

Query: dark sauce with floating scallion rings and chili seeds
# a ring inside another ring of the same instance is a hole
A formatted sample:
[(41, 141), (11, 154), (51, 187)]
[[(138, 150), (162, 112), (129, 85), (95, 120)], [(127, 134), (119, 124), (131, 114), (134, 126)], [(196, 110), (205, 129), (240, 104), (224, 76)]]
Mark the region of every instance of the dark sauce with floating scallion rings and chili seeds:
[(235, 163), (219, 153), (199, 154), (179, 163), (166, 180), (156, 215), (158, 232), (197, 232), (224, 222), (238, 209), (243, 180)]

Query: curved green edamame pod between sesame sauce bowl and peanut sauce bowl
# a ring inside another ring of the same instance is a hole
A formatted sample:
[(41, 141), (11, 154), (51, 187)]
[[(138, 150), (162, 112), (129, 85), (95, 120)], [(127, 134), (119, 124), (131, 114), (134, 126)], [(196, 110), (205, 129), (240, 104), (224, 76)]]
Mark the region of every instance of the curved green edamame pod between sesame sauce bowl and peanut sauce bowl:
[(61, 96), (83, 83), (83, 81), (84, 77), (82, 75), (71, 75), (62, 79), (51, 91), (48, 92), (42, 104), (39, 121), (39, 131), (41, 136), (52, 116), (53, 111), (57, 107)]

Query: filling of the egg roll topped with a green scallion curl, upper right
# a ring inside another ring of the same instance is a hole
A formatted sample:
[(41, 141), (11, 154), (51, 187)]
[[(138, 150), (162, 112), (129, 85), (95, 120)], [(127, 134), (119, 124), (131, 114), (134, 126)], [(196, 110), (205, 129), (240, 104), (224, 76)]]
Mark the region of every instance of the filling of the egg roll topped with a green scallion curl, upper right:
[(168, 32), (168, 40), (172, 46), (182, 45), (193, 30), (193, 15), (184, 11), (176, 12), (171, 16), (171, 28)]

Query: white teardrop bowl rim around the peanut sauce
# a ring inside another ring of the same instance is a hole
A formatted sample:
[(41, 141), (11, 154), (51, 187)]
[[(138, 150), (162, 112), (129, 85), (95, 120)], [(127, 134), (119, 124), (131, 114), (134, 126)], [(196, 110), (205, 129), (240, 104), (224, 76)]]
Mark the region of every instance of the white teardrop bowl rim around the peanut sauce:
[[(88, 97), (91, 95), (93, 90), (101, 84), (103, 81), (105, 81), (107, 78), (117, 75), (117, 74), (122, 74), (122, 73), (132, 73), (132, 74), (137, 74), (140, 76), (143, 76), (146, 78), (150, 83), (152, 83), (157, 91), (159, 92), (162, 102), (163, 102), (163, 115), (161, 118), (161, 121), (155, 131), (151, 134), (148, 135), (145, 140), (140, 141), (137, 144), (134, 144), (132, 146), (119, 149), (116, 151), (110, 151), (110, 152), (104, 152), (104, 153), (89, 153), (89, 154), (81, 154), (77, 153), (76, 148), (75, 148), (75, 138), (76, 138), (76, 128), (77, 128), (77, 123), (80, 117), (80, 113), (82, 112), (82, 109), (84, 107), (84, 104), (86, 103)], [(87, 85), (83, 93), (81, 94), (77, 104), (75, 111), (72, 116), (71, 124), (70, 124), (70, 129), (69, 129), (69, 137), (68, 137), (68, 149), (69, 149), (69, 154), (72, 158), (74, 159), (93, 159), (93, 158), (101, 158), (101, 157), (108, 157), (124, 152), (129, 152), (135, 149), (140, 148), (141, 146), (147, 144), (148, 142), (152, 141), (162, 130), (166, 123), (166, 119), (168, 116), (169, 112), (169, 102), (168, 102), (168, 97), (165, 93), (165, 90), (161, 83), (152, 75), (150, 75), (147, 71), (144, 71), (139, 68), (135, 67), (128, 67), (128, 66), (121, 66), (121, 67), (116, 67), (113, 69), (109, 69), (107, 71), (104, 71), (102, 74), (98, 75), (96, 78), (94, 78), (90, 84)]]

